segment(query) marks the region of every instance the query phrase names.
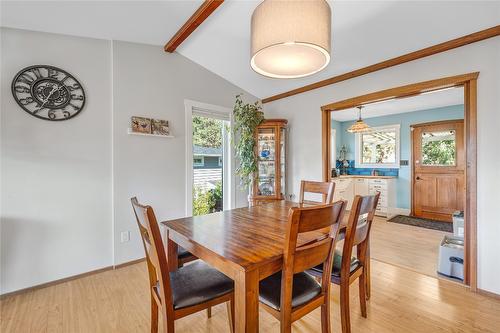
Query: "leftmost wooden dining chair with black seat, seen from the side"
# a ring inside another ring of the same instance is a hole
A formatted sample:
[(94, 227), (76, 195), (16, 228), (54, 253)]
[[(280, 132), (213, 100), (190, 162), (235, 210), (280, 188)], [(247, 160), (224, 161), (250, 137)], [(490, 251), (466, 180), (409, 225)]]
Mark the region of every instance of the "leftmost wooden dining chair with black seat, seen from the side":
[[(227, 302), (229, 326), (234, 331), (234, 282), (201, 260), (169, 272), (167, 255), (153, 209), (132, 198), (137, 225), (146, 253), (151, 292), (151, 332), (158, 332), (158, 316), (164, 331), (174, 332), (174, 321)], [(168, 237), (168, 232), (167, 232)]]

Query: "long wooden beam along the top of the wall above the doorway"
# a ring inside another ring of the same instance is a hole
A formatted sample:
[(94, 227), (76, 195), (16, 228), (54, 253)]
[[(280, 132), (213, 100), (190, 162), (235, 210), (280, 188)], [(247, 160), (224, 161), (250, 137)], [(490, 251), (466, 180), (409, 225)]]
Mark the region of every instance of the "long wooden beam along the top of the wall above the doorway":
[(392, 58), (389, 60), (379, 62), (379, 63), (374, 64), (374, 65), (363, 67), (363, 68), (354, 70), (352, 72), (337, 75), (337, 76), (331, 77), (329, 79), (325, 79), (325, 80), (318, 81), (318, 82), (315, 82), (312, 84), (308, 84), (307, 86), (303, 86), (303, 87), (293, 89), (293, 90), (290, 90), (290, 91), (287, 91), (287, 92), (284, 92), (284, 93), (281, 93), (278, 95), (264, 98), (262, 100), (262, 103), (269, 103), (269, 102), (276, 101), (278, 99), (282, 99), (282, 98), (290, 97), (293, 95), (301, 94), (301, 93), (304, 93), (307, 91), (311, 91), (314, 89), (322, 88), (322, 87), (325, 87), (325, 86), (328, 86), (328, 85), (331, 85), (334, 83), (342, 82), (342, 81), (349, 80), (349, 79), (352, 79), (352, 78), (355, 78), (358, 76), (373, 73), (373, 72), (376, 72), (376, 71), (379, 71), (381, 69), (385, 69), (388, 67), (404, 64), (405, 62), (428, 57), (428, 56), (434, 55), (436, 53), (448, 51), (448, 50), (451, 50), (451, 49), (454, 49), (457, 47), (461, 47), (461, 46), (468, 45), (471, 43), (479, 42), (479, 41), (482, 41), (484, 39), (496, 37), (499, 35), (500, 35), (500, 25), (497, 25), (495, 27), (481, 30), (481, 31), (472, 33), (470, 35), (455, 38), (455, 39), (449, 40), (449, 41), (444, 42), (444, 43), (440, 43), (440, 44), (436, 44), (434, 46), (427, 47), (425, 49), (421, 49), (421, 50), (418, 50), (415, 52), (407, 53), (407, 54), (404, 54), (404, 55), (396, 57), (396, 58)]

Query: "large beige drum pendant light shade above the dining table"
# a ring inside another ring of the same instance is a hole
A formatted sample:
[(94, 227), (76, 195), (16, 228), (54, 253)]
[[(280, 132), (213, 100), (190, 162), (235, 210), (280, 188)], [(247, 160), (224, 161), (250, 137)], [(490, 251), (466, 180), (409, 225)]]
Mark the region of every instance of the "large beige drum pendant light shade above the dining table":
[(325, 0), (265, 0), (252, 15), (252, 68), (297, 78), (330, 62), (331, 10)]

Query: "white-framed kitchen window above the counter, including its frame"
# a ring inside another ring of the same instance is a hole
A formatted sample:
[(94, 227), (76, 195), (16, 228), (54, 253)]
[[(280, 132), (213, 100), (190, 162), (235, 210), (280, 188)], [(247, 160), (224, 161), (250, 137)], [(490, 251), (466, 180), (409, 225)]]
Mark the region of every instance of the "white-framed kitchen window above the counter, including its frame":
[(399, 125), (356, 134), (357, 168), (399, 168)]

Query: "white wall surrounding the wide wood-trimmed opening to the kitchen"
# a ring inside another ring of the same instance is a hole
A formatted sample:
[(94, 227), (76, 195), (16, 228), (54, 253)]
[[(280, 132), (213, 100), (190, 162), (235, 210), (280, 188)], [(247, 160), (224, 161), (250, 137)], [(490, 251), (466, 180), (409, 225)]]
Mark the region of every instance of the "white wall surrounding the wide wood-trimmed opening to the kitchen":
[[(335, 57), (332, 59), (335, 62)], [(478, 79), (478, 286), (500, 294), (500, 37), (391, 67), (264, 105), (267, 117), (289, 119), (289, 188), (321, 179), (322, 105), (435, 78), (481, 72)]]

